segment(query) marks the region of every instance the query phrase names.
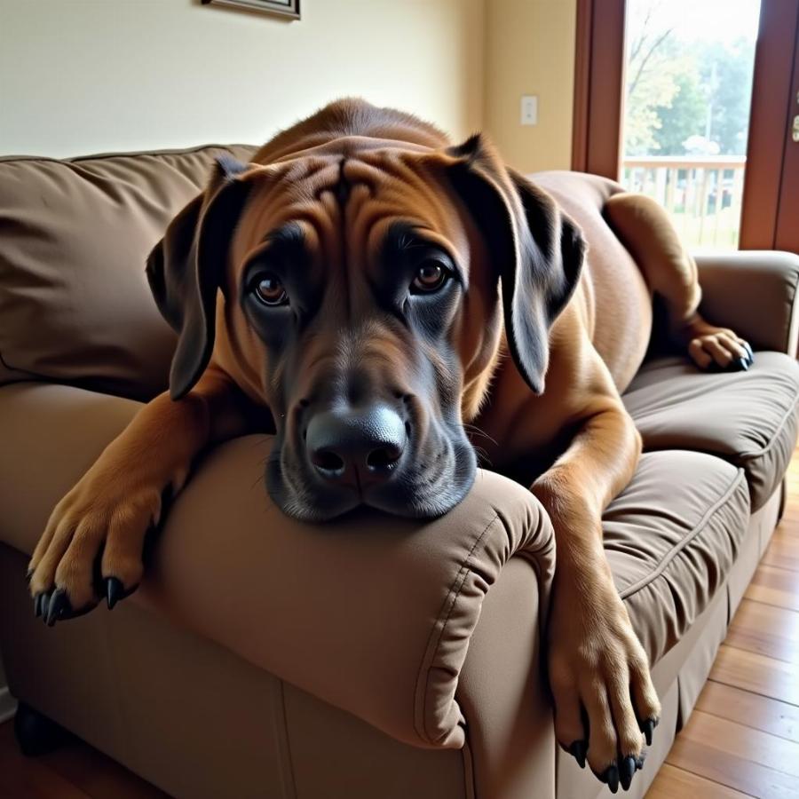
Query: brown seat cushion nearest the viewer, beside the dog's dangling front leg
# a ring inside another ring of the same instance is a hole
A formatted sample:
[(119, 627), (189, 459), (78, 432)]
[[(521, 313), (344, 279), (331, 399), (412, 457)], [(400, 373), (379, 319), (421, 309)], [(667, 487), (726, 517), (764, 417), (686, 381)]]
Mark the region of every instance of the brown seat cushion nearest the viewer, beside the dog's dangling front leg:
[(748, 528), (742, 469), (713, 455), (643, 455), (627, 488), (605, 510), (613, 579), (652, 663), (708, 606)]

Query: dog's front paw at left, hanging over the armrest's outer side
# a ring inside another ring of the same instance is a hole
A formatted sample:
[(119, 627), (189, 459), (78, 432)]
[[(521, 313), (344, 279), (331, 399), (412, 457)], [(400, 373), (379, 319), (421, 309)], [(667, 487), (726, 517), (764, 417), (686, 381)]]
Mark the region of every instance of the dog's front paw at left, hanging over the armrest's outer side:
[(157, 487), (131, 486), (98, 462), (56, 505), (28, 568), (34, 612), (48, 625), (108, 607), (138, 587), (147, 529), (161, 512)]

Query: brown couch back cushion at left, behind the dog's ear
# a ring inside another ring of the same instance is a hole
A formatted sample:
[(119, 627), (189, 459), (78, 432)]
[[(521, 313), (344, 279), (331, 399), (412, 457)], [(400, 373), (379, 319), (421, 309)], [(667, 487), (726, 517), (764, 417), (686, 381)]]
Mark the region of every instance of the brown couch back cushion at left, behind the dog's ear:
[(254, 148), (0, 160), (0, 384), (48, 380), (134, 399), (162, 392), (176, 337), (145, 275), (215, 156)]

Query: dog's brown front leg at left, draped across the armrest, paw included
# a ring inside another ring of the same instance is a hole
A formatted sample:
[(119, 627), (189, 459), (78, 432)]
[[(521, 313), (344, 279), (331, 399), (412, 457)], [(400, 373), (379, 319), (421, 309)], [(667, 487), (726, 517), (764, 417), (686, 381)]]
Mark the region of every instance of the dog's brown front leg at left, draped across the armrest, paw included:
[(91, 610), (100, 593), (109, 606), (131, 593), (163, 492), (178, 492), (204, 447), (244, 431), (246, 408), (214, 368), (185, 398), (164, 393), (143, 407), (52, 510), (28, 572), (36, 614), (53, 624)]

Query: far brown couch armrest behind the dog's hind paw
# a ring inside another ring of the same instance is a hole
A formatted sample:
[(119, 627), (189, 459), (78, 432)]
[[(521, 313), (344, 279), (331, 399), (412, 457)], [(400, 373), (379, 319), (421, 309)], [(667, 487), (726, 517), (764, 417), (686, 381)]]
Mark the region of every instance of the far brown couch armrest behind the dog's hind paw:
[(755, 349), (796, 354), (799, 256), (751, 250), (698, 255), (701, 312), (733, 328)]

